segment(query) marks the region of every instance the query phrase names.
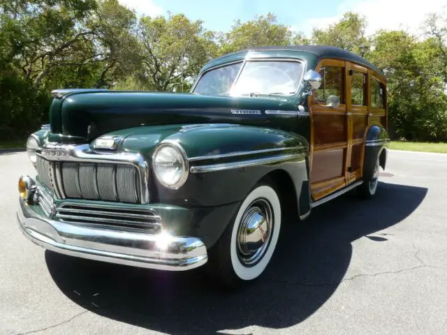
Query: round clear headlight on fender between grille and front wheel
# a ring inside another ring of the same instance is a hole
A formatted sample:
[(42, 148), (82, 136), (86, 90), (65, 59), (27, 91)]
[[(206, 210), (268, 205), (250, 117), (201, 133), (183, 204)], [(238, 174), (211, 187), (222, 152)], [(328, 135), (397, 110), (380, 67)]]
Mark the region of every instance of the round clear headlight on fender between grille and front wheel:
[(186, 154), (173, 144), (161, 144), (155, 149), (152, 168), (159, 182), (168, 188), (179, 188), (188, 178)]

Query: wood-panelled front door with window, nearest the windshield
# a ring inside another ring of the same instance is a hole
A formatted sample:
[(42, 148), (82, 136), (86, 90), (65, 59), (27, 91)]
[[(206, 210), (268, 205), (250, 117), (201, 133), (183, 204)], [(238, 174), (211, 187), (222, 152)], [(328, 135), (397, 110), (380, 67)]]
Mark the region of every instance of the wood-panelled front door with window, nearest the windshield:
[[(346, 75), (349, 62), (323, 59), (316, 67), (321, 87), (309, 96), (311, 119), (310, 181), (312, 199), (318, 200), (346, 186), (349, 148)], [(328, 96), (338, 96), (339, 107), (327, 107)]]

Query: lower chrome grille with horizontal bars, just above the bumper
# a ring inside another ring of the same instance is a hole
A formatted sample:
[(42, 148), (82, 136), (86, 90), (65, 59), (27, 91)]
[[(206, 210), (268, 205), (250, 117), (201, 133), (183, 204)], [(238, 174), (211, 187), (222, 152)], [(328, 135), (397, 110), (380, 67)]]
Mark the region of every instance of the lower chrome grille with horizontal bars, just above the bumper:
[(150, 232), (161, 231), (161, 218), (149, 209), (126, 208), (104, 204), (66, 202), (57, 209), (61, 222), (97, 228)]

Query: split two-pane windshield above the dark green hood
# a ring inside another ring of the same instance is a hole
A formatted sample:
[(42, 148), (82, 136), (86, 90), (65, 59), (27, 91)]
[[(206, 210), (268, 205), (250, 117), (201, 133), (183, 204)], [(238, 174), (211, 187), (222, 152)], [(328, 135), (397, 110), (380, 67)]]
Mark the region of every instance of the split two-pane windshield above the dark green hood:
[(198, 94), (284, 94), (295, 93), (300, 84), (302, 63), (298, 61), (247, 61), (221, 66), (200, 77), (194, 93)]

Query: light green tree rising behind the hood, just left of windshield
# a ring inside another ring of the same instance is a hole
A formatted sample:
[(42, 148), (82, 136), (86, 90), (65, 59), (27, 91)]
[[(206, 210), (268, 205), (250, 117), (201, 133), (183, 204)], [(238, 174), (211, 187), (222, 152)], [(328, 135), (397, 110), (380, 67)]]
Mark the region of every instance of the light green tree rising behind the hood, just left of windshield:
[(182, 14), (142, 17), (138, 27), (140, 82), (156, 91), (181, 91), (216, 54), (213, 39), (202, 21), (191, 22)]

